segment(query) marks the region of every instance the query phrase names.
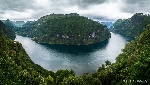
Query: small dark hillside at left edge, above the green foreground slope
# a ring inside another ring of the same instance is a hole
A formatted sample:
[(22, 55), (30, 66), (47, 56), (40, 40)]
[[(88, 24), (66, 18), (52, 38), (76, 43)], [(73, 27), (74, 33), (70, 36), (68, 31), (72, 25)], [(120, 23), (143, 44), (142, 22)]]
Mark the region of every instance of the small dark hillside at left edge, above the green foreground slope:
[(9, 39), (14, 40), (16, 37), (14, 31), (8, 28), (1, 20), (0, 20), (0, 33)]

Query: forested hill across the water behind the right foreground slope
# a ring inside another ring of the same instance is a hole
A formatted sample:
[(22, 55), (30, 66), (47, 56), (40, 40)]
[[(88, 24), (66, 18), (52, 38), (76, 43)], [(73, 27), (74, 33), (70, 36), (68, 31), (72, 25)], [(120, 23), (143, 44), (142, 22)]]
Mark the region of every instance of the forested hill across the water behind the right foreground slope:
[(137, 37), (139, 36), (150, 23), (150, 15), (136, 13), (128, 19), (118, 19), (110, 30), (124, 36)]

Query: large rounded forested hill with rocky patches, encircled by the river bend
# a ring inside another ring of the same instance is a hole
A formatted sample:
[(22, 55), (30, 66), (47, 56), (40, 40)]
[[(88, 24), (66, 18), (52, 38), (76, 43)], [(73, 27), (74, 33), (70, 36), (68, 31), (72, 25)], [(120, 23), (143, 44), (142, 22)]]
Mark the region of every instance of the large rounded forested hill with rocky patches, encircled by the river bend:
[(38, 43), (88, 45), (110, 38), (107, 27), (76, 13), (50, 14), (24, 25), (19, 35)]

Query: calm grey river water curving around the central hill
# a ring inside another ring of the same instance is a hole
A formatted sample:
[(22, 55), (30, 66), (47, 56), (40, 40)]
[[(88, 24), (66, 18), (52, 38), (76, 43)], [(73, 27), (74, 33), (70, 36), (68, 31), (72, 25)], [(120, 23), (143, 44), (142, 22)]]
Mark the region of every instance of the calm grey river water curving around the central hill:
[(129, 38), (111, 33), (111, 38), (89, 46), (38, 44), (28, 37), (16, 36), (30, 58), (47, 70), (73, 69), (77, 75), (95, 72), (106, 60), (115, 62)]

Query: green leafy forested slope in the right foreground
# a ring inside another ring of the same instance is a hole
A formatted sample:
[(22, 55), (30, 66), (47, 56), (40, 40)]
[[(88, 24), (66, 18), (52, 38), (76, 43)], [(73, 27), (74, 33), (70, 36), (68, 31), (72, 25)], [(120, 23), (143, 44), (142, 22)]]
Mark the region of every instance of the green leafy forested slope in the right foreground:
[(150, 24), (145, 31), (125, 45), (116, 63), (106, 62), (93, 76), (104, 85), (150, 84)]

